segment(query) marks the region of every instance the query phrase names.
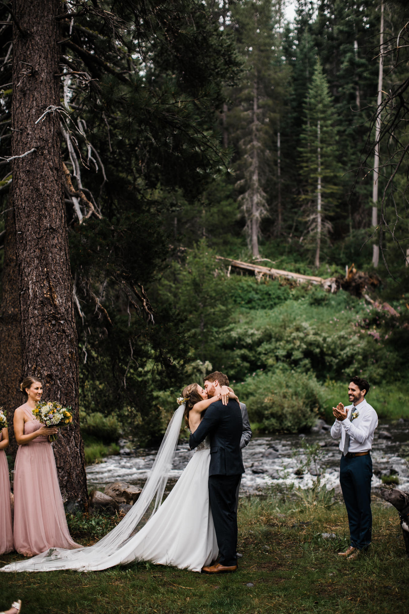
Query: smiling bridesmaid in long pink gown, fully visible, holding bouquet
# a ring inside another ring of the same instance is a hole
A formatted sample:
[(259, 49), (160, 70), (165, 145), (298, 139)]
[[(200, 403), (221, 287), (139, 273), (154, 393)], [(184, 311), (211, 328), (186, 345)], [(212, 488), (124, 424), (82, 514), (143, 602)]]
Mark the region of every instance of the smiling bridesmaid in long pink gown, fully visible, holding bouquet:
[(18, 443), (14, 474), (14, 547), (25, 556), (49, 548), (79, 548), (72, 541), (65, 517), (53, 449), (48, 436), (56, 427), (45, 427), (33, 418), (41, 400), (42, 384), (26, 377), (20, 386), (27, 402), (14, 412)]

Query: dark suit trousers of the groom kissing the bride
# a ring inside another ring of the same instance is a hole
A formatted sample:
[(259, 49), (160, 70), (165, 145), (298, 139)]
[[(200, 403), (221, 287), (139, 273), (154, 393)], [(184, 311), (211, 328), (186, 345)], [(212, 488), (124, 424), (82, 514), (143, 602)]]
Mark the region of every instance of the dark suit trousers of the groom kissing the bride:
[(209, 500), (219, 546), (219, 563), (226, 567), (237, 563), (236, 489), (240, 479), (241, 473), (209, 476)]

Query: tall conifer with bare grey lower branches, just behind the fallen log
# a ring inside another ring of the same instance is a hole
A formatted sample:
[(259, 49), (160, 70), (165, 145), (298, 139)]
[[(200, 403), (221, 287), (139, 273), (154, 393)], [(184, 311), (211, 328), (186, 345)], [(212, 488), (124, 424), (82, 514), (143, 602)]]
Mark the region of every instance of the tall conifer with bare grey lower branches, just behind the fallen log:
[(246, 58), (243, 85), (233, 93), (235, 107), (230, 122), (236, 126), (236, 170), (239, 201), (246, 219), (246, 236), (253, 257), (259, 257), (260, 223), (267, 216), (265, 191), (271, 172), (270, 142), (273, 114), (272, 51), (273, 7), (271, 0), (241, 0), (232, 7), (237, 26), (238, 50)]

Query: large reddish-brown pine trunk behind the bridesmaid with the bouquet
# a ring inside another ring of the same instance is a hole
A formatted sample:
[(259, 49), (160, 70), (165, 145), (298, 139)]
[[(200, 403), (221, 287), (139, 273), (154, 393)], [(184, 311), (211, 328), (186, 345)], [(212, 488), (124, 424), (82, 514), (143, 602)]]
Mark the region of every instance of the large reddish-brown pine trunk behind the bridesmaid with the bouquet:
[(41, 379), (46, 400), (71, 405), (54, 452), (63, 499), (85, 503), (84, 446), (79, 431), (78, 345), (63, 200), (58, 112), (60, 0), (14, 0), (12, 155), (17, 284), (23, 375)]

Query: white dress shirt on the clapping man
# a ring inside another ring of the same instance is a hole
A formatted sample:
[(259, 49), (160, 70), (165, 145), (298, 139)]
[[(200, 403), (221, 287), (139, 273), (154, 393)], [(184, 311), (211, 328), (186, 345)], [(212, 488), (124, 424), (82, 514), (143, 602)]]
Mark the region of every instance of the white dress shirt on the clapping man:
[[(338, 439), (341, 436), (340, 450), (343, 452), (345, 433), (349, 434), (348, 452), (366, 452), (372, 450), (373, 433), (378, 426), (378, 416), (372, 405), (361, 401), (359, 405), (345, 407), (348, 418), (335, 420), (331, 427), (331, 437)], [(351, 422), (354, 412), (358, 412), (357, 418)]]

